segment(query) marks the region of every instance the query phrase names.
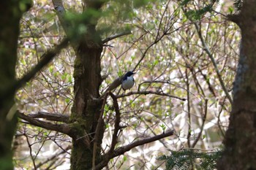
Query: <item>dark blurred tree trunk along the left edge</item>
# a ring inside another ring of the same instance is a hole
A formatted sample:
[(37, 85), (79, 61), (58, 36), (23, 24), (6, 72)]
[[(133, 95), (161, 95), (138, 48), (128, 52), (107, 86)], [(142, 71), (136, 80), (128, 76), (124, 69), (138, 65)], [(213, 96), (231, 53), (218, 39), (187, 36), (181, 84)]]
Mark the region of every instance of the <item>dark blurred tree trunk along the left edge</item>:
[(15, 84), (19, 24), (26, 7), (24, 1), (0, 2), (0, 169), (3, 170), (13, 169), (11, 147), (18, 120), (12, 107), (15, 91), (9, 89)]

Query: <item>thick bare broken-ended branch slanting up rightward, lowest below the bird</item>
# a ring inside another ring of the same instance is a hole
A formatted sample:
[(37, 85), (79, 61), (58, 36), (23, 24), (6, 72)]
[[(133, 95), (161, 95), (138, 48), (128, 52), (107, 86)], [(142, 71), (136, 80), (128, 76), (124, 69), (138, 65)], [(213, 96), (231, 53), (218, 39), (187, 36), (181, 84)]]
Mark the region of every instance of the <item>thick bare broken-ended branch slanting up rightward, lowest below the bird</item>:
[(96, 166), (96, 169), (102, 169), (103, 167), (108, 165), (108, 162), (110, 161), (110, 159), (115, 158), (116, 156), (119, 156), (119, 155), (123, 155), (125, 152), (132, 150), (132, 148), (134, 147), (138, 147), (143, 144), (148, 144), (150, 142), (154, 142), (159, 139), (163, 139), (167, 136), (172, 136), (172, 135), (173, 135), (173, 131), (167, 131), (166, 133), (159, 134), (157, 136), (152, 136), (142, 140), (138, 140), (136, 142), (132, 142), (131, 144), (127, 144), (124, 147), (118, 147), (116, 148), (116, 150), (113, 150), (113, 152), (108, 152), (105, 155), (103, 155), (104, 160)]

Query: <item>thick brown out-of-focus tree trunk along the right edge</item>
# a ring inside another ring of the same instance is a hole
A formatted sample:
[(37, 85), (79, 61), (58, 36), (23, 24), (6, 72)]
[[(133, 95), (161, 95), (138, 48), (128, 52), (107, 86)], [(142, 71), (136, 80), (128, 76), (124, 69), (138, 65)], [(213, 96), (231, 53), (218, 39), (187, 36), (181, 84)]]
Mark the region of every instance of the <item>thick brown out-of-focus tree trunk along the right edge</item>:
[(241, 51), (233, 87), (233, 107), (218, 169), (256, 169), (256, 1), (245, 0), (230, 17), (241, 28)]

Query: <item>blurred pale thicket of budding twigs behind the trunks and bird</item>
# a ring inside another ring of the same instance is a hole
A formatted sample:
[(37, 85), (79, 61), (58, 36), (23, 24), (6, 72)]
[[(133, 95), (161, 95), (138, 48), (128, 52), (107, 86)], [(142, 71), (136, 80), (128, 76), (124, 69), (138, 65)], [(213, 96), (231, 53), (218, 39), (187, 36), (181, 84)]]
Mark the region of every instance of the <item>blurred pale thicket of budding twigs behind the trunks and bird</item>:
[[(196, 10), (209, 4), (213, 5), (210, 12), (195, 15)], [(63, 5), (65, 20), (75, 25), (69, 36), (79, 38), (87, 29), (78, 24), (83, 15), (76, 15), (83, 12), (84, 4), (67, 0)], [(66, 36), (58, 10), (52, 1), (34, 0), (24, 13), (18, 39), (18, 78)], [(136, 72), (131, 90), (124, 92), (120, 86), (113, 90), (121, 113), (116, 147), (174, 131), (172, 136), (111, 158), (108, 169), (165, 169), (165, 161), (159, 157), (172, 151), (214, 152), (222, 148), (240, 42), (238, 26), (226, 19), (233, 10), (230, 1), (104, 4), (96, 26), (105, 40), (100, 57), (104, 80), (99, 95), (125, 72)], [(67, 123), (75, 98), (75, 57), (72, 47), (64, 48), (26, 82), (15, 96), (19, 112), (35, 120), (45, 120), (44, 114), (62, 115), (62, 122)], [(116, 122), (113, 101), (106, 100), (102, 153), (111, 146)], [(19, 120), (14, 138), (15, 169), (69, 169), (72, 138), (31, 124)], [(194, 169), (197, 166), (200, 162), (195, 162)]]

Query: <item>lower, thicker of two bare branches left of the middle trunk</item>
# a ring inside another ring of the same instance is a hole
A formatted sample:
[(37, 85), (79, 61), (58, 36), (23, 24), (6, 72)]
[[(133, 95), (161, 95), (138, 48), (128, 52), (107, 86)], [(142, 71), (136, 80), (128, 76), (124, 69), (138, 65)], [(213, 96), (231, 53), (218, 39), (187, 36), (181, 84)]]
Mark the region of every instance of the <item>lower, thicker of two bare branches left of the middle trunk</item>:
[(45, 122), (42, 120), (34, 119), (33, 117), (29, 117), (28, 115), (24, 115), (23, 113), (18, 112), (18, 117), (20, 119), (26, 120), (31, 125), (37, 125), (38, 127), (48, 129), (50, 131), (59, 131), (63, 134), (67, 134), (69, 136), (74, 136), (75, 132), (72, 128), (69, 127), (66, 123), (62, 124), (53, 124), (49, 122)]

